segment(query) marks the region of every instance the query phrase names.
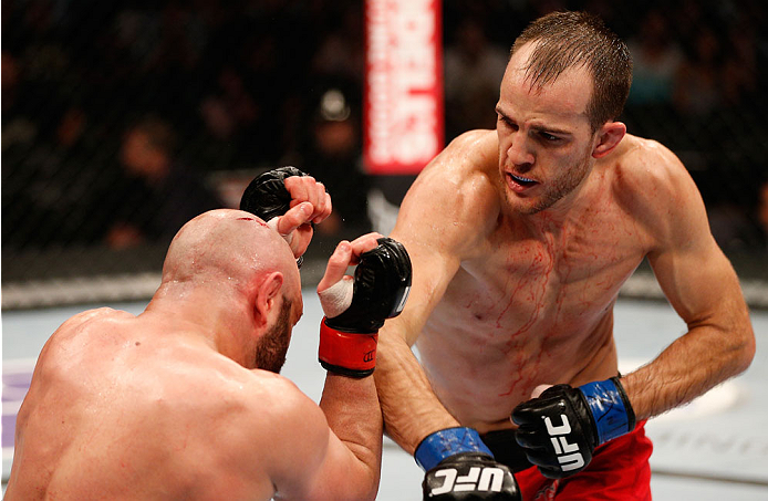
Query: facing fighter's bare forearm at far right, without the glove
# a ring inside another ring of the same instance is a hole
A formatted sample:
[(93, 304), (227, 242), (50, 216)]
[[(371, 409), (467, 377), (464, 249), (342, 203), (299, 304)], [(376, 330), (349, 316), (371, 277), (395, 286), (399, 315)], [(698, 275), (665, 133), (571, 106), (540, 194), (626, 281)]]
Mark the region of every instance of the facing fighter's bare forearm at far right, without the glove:
[(749, 319), (735, 328), (692, 326), (652, 363), (621, 378), (637, 420), (687, 404), (745, 370), (755, 354)]

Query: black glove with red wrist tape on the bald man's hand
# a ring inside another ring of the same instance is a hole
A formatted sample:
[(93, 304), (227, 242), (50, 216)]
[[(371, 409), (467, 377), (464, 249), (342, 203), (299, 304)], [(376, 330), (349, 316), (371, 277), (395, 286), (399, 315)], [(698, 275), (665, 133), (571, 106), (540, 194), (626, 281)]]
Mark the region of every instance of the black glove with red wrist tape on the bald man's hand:
[(378, 328), (405, 306), (411, 291), (411, 258), (405, 247), (391, 238), (377, 242), (375, 249), (360, 255), (349, 307), (323, 319), (320, 326), (318, 358), (326, 370), (350, 377), (371, 375), (376, 366)]

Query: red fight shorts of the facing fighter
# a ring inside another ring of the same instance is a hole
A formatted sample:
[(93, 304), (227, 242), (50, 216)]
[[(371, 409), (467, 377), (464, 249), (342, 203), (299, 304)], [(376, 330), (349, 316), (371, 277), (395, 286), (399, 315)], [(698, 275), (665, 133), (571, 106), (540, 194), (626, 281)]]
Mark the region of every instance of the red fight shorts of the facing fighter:
[[(486, 441), (485, 436), (482, 439)], [(489, 441), (492, 442), (492, 440)], [(489, 441), (486, 443), (488, 445)], [(507, 443), (509, 447), (509, 442)], [(495, 443), (497, 447), (498, 445)], [(515, 446), (517, 446), (516, 442)], [(497, 456), (497, 451), (494, 450), (496, 447), (491, 445), (488, 447)], [(505, 449), (508, 453), (511, 452), (508, 448)], [(642, 421), (631, 434), (598, 447), (589, 466), (572, 477), (559, 480), (548, 479), (539, 472), (538, 468), (530, 467), (517, 471), (515, 479), (518, 481), (523, 501), (650, 501), (651, 465), (648, 465), (648, 458), (652, 450), (651, 439), (645, 436), (645, 421)], [(499, 456), (504, 456), (504, 453)], [(507, 463), (498, 456), (497, 460)], [(512, 469), (517, 470), (517, 468)]]

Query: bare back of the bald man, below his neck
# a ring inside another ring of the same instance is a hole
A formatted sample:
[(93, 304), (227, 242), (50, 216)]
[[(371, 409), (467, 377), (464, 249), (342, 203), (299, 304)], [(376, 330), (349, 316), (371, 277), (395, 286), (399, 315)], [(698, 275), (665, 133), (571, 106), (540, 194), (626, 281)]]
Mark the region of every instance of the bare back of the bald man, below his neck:
[(251, 451), (274, 449), (274, 424), (290, 401), (284, 378), (247, 370), (166, 327), (101, 309), (54, 333), (19, 413), (9, 492), (271, 498), (272, 459)]

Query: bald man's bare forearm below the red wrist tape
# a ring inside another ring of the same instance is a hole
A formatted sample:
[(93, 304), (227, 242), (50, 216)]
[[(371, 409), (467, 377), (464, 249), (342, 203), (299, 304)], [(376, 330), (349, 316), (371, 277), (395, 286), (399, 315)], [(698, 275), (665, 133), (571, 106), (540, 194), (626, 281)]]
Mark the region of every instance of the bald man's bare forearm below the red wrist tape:
[[(360, 468), (347, 483), (375, 495), (382, 459), (382, 414), (373, 377), (352, 378), (328, 373), (320, 400), (329, 427), (357, 458)], [(367, 498), (367, 495), (363, 497)]]

